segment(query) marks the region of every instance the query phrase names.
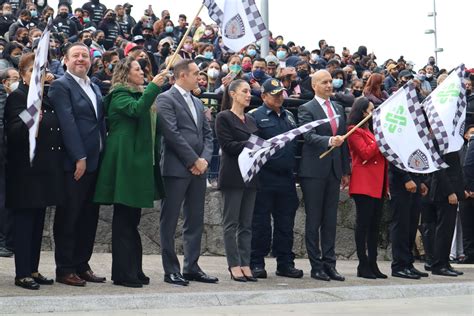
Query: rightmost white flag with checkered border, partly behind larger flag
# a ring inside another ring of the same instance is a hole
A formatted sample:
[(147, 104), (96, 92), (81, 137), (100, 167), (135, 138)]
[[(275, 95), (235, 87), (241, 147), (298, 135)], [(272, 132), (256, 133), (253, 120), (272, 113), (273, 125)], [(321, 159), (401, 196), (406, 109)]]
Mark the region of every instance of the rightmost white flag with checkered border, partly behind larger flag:
[(422, 103), (441, 155), (458, 151), (464, 144), (467, 101), (463, 79), (461, 64)]

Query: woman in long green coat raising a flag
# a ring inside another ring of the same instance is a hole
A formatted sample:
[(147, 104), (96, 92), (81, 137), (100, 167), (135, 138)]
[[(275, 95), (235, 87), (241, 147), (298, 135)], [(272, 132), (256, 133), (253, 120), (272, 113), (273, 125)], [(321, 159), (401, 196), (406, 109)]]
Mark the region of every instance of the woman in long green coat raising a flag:
[(104, 99), (109, 131), (94, 201), (114, 205), (112, 280), (116, 285), (142, 287), (150, 282), (142, 270), (138, 224), (141, 209), (153, 207), (153, 201), (164, 195), (160, 136), (151, 107), (165, 77), (158, 74), (143, 90), (140, 64), (126, 58), (115, 66), (111, 92)]

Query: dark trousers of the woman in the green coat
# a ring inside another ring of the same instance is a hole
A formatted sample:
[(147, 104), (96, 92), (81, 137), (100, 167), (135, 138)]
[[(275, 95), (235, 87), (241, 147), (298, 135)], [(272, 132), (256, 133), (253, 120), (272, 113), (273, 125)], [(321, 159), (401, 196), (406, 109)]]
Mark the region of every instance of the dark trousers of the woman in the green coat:
[(139, 282), (143, 278), (142, 240), (138, 232), (142, 210), (114, 204), (112, 220), (112, 280)]

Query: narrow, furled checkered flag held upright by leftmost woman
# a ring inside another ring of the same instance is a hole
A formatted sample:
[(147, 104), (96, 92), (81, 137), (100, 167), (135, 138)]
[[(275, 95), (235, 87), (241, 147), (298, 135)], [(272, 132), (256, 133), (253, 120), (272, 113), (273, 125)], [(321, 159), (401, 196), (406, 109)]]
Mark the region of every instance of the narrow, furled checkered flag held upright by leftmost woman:
[(20, 118), (28, 127), (29, 143), (30, 143), (30, 163), (35, 157), (36, 136), (39, 124), (39, 115), (41, 111), (41, 102), (43, 100), (43, 76), (45, 75), (46, 66), (48, 63), (49, 53), (49, 37), (53, 20), (50, 18), (48, 24), (41, 34), (38, 47), (35, 51), (35, 62), (33, 65), (33, 73), (28, 89), (28, 97), (26, 102), (26, 110), (20, 113)]

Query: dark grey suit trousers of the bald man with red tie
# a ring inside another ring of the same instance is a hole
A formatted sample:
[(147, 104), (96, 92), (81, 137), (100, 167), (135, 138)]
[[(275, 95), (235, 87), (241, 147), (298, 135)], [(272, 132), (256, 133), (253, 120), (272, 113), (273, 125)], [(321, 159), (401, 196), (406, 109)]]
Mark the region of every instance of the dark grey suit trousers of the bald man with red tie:
[(312, 271), (336, 266), (334, 247), (340, 183), (332, 172), (326, 179), (301, 178), (306, 211), (305, 241)]

